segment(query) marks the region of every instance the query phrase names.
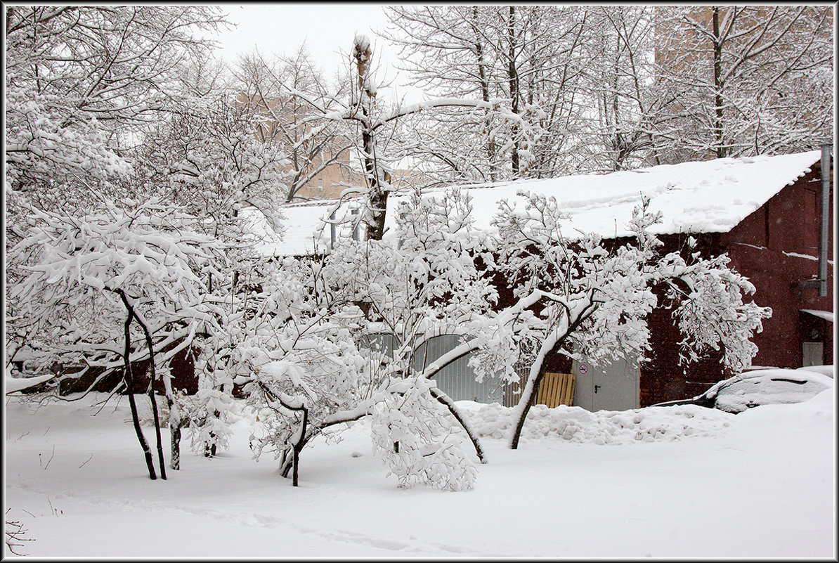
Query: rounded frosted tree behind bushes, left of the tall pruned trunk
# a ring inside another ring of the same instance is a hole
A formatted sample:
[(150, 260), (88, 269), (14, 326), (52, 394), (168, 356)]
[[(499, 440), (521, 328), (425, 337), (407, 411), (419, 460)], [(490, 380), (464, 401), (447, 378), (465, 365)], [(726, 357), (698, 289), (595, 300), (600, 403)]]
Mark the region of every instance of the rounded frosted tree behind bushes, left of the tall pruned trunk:
[(185, 206), (235, 252), (248, 237), (239, 216), (244, 206), (258, 209), (282, 232), (279, 206), (289, 190), (289, 160), (279, 138), (263, 135), (263, 114), (211, 60), (185, 65), (176, 91), (168, 117), (127, 152), (137, 173), (122, 190)]

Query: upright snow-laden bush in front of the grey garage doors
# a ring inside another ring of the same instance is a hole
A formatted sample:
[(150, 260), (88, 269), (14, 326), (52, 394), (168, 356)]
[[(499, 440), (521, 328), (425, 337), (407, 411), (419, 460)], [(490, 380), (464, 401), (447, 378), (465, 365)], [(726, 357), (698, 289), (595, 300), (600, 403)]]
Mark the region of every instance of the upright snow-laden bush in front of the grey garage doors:
[[(374, 372), (430, 378), (470, 352), (475, 347), (470, 336), (487, 326), (497, 292), (479, 264), (491, 257), (483, 252), (485, 233), (473, 227), (472, 204), (461, 190), (427, 197), (415, 192), (396, 211), (393, 235), (342, 242), (327, 260), (324, 276), (346, 287), (364, 313), (357, 321), (360, 347), (378, 358)], [(440, 335), (459, 336), (461, 346), (427, 362), (423, 350)], [(379, 336), (387, 346), (377, 350), (371, 342)], [(439, 389), (429, 393), (466, 425)], [(484, 461), (477, 440), (473, 444)]]

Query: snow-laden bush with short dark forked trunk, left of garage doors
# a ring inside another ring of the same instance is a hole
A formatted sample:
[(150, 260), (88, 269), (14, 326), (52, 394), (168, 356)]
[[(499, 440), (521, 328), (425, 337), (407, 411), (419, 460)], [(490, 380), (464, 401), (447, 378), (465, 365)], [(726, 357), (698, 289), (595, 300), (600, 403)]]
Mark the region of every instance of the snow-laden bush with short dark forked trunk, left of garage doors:
[(254, 457), (273, 452), (284, 477), (292, 470), (296, 476), (311, 438), (357, 409), (378, 384), (352, 336), (361, 313), (340, 286), (324, 284), (322, 268), (317, 259), (259, 264), (258, 284), (234, 302), (227, 340), (212, 352), (216, 371), (242, 385), (258, 412), (263, 430), (252, 436)]

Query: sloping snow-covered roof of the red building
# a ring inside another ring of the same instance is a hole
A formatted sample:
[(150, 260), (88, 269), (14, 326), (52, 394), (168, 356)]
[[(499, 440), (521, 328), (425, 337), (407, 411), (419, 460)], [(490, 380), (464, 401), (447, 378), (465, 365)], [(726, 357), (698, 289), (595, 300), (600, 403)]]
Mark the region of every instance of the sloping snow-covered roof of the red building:
[[(753, 211), (810, 171), (821, 159), (820, 151), (743, 159), (714, 159), (683, 164), (664, 164), (645, 169), (602, 175), (573, 175), (543, 180), (518, 180), (496, 184), (461, 186), (472, 195), (476, 227), (490, 228), (498, 202), (506, 199), (518, 208), (524, 201), (516, 195), (527, 190), (553, 196), (560, 209), (571, 216), (580, 232), (603, 237), (625, 237), (632, 211), (641, 195), (650, 198), (652, 211), (662, 219), (650, 230), (656, 234), (680, 232), (728, 232)], [(439, 193), (444, 188), (428, 190)], [(388, 209), (404, 195), (388, 199)], [(322, 220), (335, 208), (335, 201), (317, 201), (284, 206), (284, 241), (266, 244), (266, 254), (302, 255), (328, 245), (330, 229)], [(393, 228), (388, 213), (385, 227)], [(569, 233), (570, 234), (570, 233)]]

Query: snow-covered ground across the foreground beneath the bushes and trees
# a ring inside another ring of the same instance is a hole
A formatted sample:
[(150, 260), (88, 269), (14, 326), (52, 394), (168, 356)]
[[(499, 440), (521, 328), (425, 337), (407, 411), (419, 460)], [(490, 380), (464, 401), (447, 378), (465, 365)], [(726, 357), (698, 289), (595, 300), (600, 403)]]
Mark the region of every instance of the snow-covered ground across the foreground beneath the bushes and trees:
[(510, 451), (509, 409), (461, 402), (489, 463), (443, 493), (384, 477), (363, 421), (304, 451), (297, 488), (252, 460), (242, 411), (229, 451), (195, 456), (187, 435), (153, 482), (125, 398), (96, 416), (7, 398), (4, 510), (32, 540), (16, 550), (49, 557), (835, 558), (835, 403), (535, 407)]

